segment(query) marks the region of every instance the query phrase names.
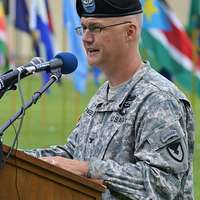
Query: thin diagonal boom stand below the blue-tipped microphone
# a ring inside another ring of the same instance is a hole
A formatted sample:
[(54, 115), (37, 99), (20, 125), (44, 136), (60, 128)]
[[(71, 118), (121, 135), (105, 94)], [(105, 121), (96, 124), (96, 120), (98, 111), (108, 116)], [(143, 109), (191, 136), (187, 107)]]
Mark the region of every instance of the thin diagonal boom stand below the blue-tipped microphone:
[(38, 99), (42, 96), (42, 94), (48, 90), (48, 88), (57, 80), (59, 80), (61, 78), (62, 74), (60, 72), (60, 70), (55, 71), (49, 81), (47, 83), (45, 83), (37, 92), (34, 93), (34, 95), (32, 96), (32, 98), (25, 102), (24, 107), (21, 107), (21, 109), (15, 113), (8, 121), (6, 121), (3, 126), (0, 127), (0, 168), (3, 167), (4, 165), (4, 160), (3, 160), (3, 143), (2, 143), (2, 136), (4, 134), (4, 131), (10, 126), (12, 125), (12, 123), (17, 120), (23, 113), (25, 110), (27, 110), (29, 107), (31, 107), (34, 104), (37, 103)]

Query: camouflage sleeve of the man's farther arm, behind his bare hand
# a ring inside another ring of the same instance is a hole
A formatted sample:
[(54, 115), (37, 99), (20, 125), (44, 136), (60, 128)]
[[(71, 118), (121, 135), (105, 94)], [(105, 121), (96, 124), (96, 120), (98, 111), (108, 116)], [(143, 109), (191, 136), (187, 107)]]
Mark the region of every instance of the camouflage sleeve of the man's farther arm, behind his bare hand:
[(24, 151), (26, 154), (29, 154), (34, 157), (47, 157), (47, 156), (62, 156), (66, 158), (73, 158), (74, 149), (77, 143), (77, 135), (79, 133), (79, 123), (72, 131), (70, 136), (67, 139), (67, 143), (65, 145), (55, 145), (49, 148), (38, 148), (32, 150)]

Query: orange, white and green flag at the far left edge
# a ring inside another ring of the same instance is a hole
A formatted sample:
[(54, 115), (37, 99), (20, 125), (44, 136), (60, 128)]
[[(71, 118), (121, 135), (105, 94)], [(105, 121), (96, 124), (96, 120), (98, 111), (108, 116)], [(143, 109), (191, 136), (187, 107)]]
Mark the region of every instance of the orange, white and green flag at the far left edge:
[(0, 0), (0, 66), (6, 64), (7, 56), (7, 36), (6, 36), (6, 19), (3, 8), (3, 2)]

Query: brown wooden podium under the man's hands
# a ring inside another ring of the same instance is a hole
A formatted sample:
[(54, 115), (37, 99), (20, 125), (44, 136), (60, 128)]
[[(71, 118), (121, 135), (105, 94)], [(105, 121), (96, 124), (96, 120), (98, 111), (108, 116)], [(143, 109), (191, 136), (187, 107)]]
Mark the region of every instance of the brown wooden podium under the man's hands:
[[(3, 145), (7, 154), (9, 147)], [(100, 200), (105, 186), (14, 150), (0, 169), (0, 200)]]

